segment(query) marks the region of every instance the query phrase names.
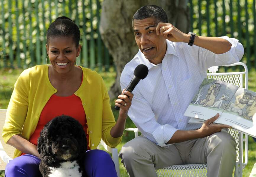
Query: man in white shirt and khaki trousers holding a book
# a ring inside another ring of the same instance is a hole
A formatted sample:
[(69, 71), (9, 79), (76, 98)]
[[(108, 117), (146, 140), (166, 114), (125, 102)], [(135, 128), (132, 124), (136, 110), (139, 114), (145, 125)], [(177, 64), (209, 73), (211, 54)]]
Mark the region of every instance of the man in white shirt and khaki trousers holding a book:
[[(208, 164), (208, 176), (231, 176), (236, 160), (235, 141), (226, 125), (187, 124), (183, 116), (211, 66), (238, 62), (244, 53), (236, 39), (185, 34), (168, 23), (163, 9), (141, 7), (133, 17), (139, 52), (125, 66), (124, 89), (139, 64), (148, 76), (133, 90), (129, 117), (142, 136), (127, 142), (119, 153), (130, 177), (157, 176), (155, 169), (179, 164)], [(189, 43), (189, 45), (188, 45)]]

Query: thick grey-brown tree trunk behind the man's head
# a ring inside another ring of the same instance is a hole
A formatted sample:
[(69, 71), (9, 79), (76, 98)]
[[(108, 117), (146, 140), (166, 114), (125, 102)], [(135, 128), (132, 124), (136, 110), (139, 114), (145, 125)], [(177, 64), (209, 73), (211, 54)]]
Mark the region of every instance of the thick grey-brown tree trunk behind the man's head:
[(124, 66), (136, 55), (136, 45), (132, 17), (140, 7), (155, 4), (162, 7), (168, 16), (169, 23), (179, 30), (189, 31), (188, 0), (105, 0), (102, 3), (100, 33), (102, 40), (116, 65), (116, 82), (109, 91), (111, 99), (121, 93), (120, 75)]

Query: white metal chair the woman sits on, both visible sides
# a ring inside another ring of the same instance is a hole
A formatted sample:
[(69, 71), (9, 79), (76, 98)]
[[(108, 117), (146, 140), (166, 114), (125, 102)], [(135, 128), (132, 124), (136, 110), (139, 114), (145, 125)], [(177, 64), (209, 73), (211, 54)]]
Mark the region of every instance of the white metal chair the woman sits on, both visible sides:
[[(3, 138), (2, 138), (2, 127), (4, 126), (4, 121), (6, 117), (6, 111), (7, 109), (0, 109), (0, 171), (4, 170), (7, 163), (9, 163), (9, 160), (12, 160), (11, 157), (14, 155), (14, 150), (15, 148), (7, 145)], [(106, 145), (106, 143), (101, 140), (101, 144), (107, 150), (109, 153), (112, 154), (112, 159), (114, 161), (115, 167), (116, 167), (116, 173), (117, 176), (120, 176), (120, 171), (119, 171), (119, 161), (118, 161), (118, 151), (116, 148), (110, 148)]]

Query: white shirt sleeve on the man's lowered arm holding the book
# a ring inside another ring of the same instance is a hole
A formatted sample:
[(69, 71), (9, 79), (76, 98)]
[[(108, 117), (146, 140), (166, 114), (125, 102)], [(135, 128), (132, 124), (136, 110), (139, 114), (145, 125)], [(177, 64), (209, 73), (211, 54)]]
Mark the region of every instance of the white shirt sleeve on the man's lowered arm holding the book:
[[(125, 70), (121, 74), (120, 85), (121, 89), (125, 89), (131, 81), (129, 74)], [(140, 94), (138, 88), (132, 91), (134, 94), (132, 99), (132, 106), (129, 109), (128, 116), (132, 119), (133, 123), (140, 130), (143, 136), (147, 137), (157, 145), (164, 147), (173, 134), (177, 131), (176, 128), (169, 124), (159, 124), (150, 104)]]

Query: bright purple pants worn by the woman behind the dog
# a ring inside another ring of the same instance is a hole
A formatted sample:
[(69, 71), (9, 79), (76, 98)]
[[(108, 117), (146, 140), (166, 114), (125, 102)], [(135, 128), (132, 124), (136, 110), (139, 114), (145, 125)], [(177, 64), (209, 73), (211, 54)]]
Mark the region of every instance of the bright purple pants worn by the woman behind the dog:
[[(10, 160), (5, 168), (5, 177), (40, 177), (40, 159), (26, 154)], [(88, 150), (85, 153), (85, 173), (91, 177), (117, 177), (110, 155), (103, 150)]]

